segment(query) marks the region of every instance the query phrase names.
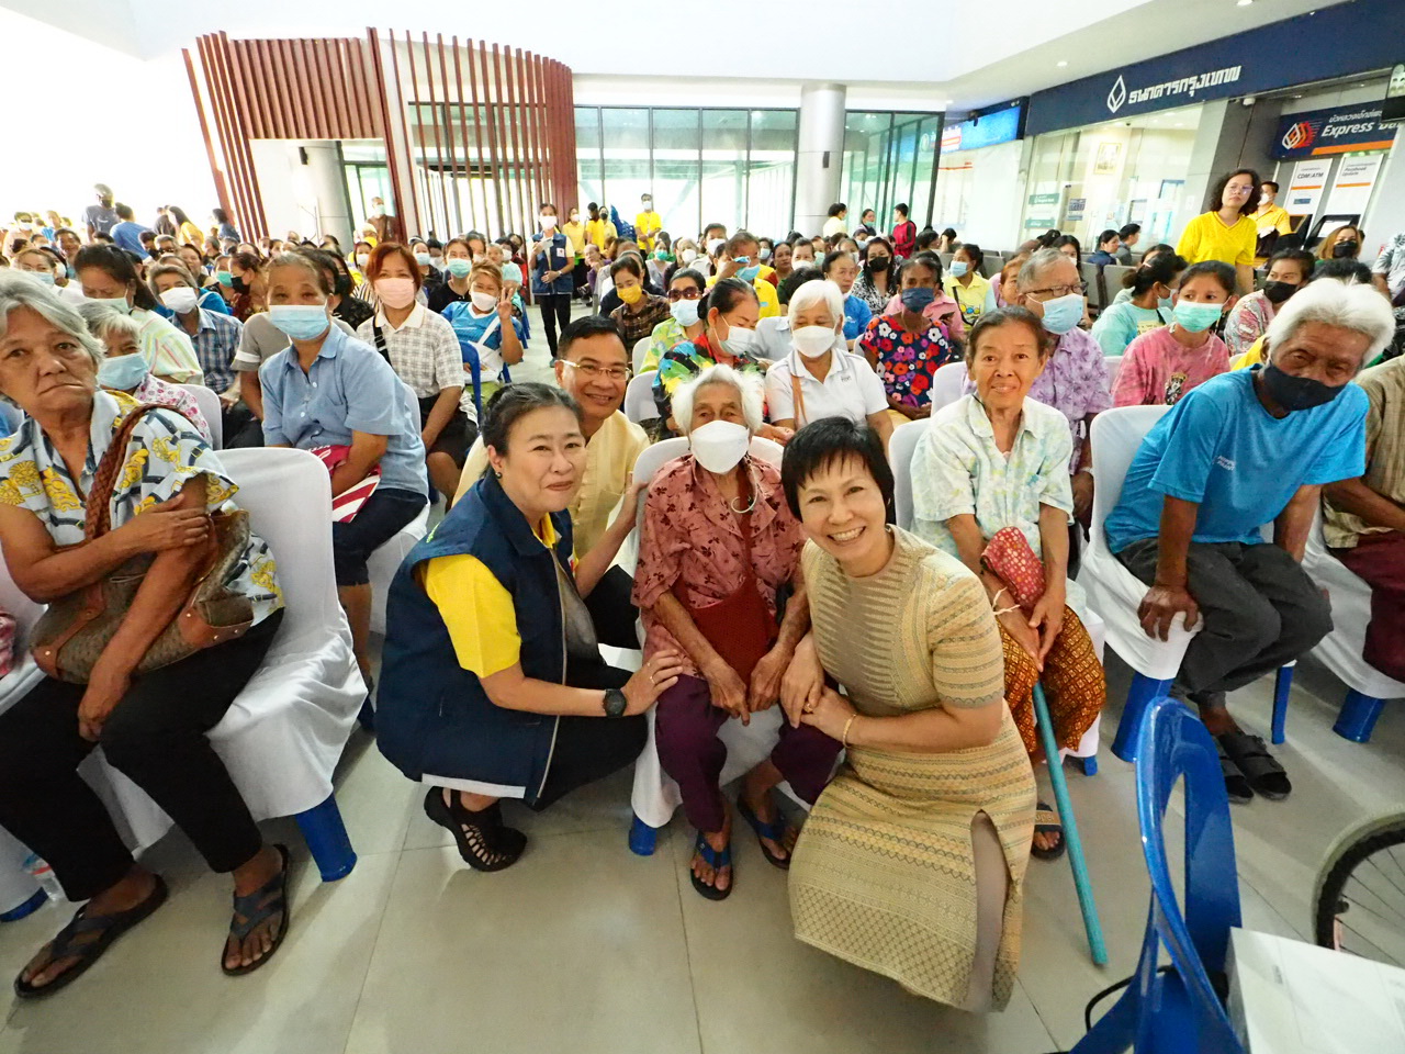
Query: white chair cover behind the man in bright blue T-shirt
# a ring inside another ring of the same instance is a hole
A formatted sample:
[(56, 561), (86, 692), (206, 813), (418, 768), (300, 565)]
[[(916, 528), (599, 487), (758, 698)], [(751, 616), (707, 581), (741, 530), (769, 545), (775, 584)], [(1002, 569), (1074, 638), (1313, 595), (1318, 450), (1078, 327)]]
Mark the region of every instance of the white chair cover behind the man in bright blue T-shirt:
[(1200, 632), (1200, 625), (1186, 631), (1184, 618), (1177, 618), (1170, 627), (1169, 641), (1155, 639), (1142, 631), (1137, 607), (1146, 596), (1146, 583), (1124, 568), (1107, 548), (1103, 521), (1123, 495), (1123, 479), (1142, 438), (1168, 409), (1120, 406), (1093, 419), (1093, 476), (1097, 486), (1093, 492), (1090, 541), (1078, 573), (1089, 607), (1107, 625), (1107, 642), (1113, 651), (1134, 670), (1154, 680), (1176, 676), (1186, 646)]

